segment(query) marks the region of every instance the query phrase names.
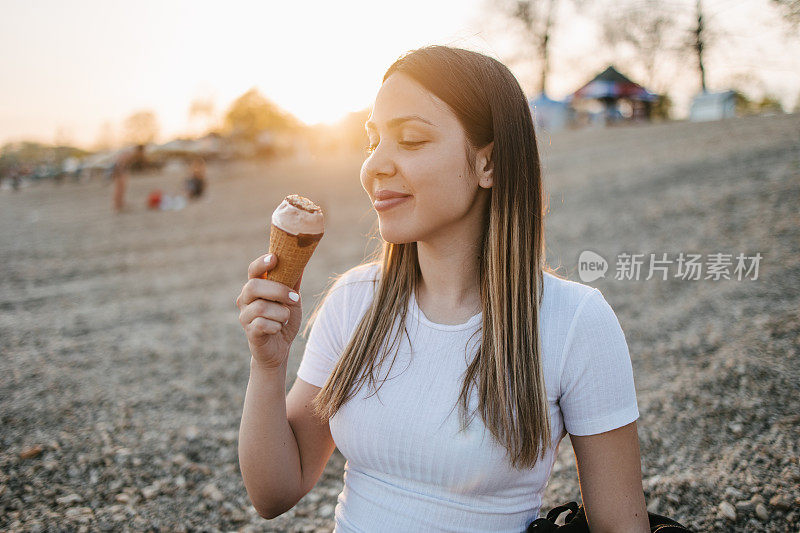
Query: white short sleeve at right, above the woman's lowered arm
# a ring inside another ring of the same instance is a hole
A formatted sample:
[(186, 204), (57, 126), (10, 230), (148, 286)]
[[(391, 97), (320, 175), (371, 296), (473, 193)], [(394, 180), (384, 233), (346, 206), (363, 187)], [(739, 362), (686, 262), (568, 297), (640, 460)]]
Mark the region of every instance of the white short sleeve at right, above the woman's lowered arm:
[(569, 434), (603, 433), (639, 418), (625, 334), (598, 289), (575, 310), (561, 364), (559, 405)]

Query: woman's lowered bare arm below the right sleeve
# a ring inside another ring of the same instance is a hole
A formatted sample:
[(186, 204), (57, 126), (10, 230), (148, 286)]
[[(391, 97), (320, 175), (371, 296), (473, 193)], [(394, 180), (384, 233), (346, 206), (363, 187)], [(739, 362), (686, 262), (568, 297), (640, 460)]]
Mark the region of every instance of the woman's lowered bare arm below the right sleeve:
[(592, 533), (649, 533), (636, 421), (570, 441)]

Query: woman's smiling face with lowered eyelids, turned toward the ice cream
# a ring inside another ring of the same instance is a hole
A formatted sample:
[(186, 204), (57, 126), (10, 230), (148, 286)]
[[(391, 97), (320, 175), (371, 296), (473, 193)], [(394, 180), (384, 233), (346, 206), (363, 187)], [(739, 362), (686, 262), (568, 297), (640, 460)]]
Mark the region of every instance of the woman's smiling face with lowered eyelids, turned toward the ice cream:
[[(366, 129), (369, 155), (361, 185), (385, 241), (425, 241), (480, 217), (483, 204), (476, 201), (478, 178), (469, 173), (465, 132), (442, 100), (412, 78), (392, 74), (378, 91)], [(374, 202), (382, 190), (411, 196), (381, 209)]]

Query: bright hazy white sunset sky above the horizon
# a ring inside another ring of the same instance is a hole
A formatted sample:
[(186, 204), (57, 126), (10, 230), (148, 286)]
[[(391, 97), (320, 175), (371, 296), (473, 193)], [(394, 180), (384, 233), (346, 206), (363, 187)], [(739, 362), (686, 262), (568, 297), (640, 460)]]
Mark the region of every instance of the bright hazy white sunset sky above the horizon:
[[(775, 27), (776, 16), (764, 9), (769, 0), (706, 1), (709, 25), (725, 30), (708, 54), (711, 88), (738, 81), (793, 107), (800, 50), (794, 41), (790, 53), (780, 32), (764, 29)], [(693, 3), (667, 2), (682, 11)], [(490, 0), (0, 0), (0, 144), (24, 139), (90, 148), (103, 124), (119, 136), (124, 119), (141, 110), (156, 113), (163, 142), (199, 131), (189, 120), (193, 100), (212, 100), (221, 115), (252, 87), (308, 124), (332, 123), (368, 107), (386, 68), (427, 44), (496, 57), (533, 96), (535, 65), (525, 61), (513, 24), (492, 17), (490, 6)], [(568, 23), (552, 39), (548, 93), (555, 98), (624, 57), (600, 49), (591, 19), (567, 4), (561, 9)], [(662, 72), (680, 118), (697, 75), (680, 64)]]

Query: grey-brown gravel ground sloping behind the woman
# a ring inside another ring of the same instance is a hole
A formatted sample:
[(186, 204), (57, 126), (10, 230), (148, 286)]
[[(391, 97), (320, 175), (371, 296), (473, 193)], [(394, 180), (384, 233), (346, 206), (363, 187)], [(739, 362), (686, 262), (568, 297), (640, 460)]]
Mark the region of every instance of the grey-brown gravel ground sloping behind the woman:
[[(578, 281), (582, 250), (612, 263), (590, 284), (630, 347), (648, 508), (696, 531), (799, 531), (800, 116), (540, 143), (549, 263)], [(177, 192), (180, 173), (134, 175), (121, 215), (102, 179), (0, 191), (0, 529), (332, 530), (338, 450), (291, 511), (264, 520), (250, 505), (236, 453), (249, 352), (234, 299), (286, 194), (328, 214), (306, 316), (328, 277), (377, 245), (359, 166), (210, 165), (209, 196), (180, 211), (144, 207), (153, 188)], [(756, 279), (618, 280), (622, 252), (762, 259)], [(541, 512), (569, 500), (580, 492), (567, 438)]]

